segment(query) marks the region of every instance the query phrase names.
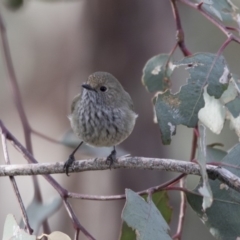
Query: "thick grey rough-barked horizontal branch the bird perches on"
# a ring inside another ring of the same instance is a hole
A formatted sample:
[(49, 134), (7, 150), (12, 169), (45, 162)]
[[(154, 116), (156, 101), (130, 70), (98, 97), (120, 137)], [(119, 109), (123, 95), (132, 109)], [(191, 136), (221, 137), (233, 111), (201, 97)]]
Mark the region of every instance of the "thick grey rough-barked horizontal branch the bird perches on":
[[(26, 176), (26, 175), (46, 175), (64, 173), (63, 162), (57, 163), (38, 163), (38, 164), (21, 164), (21, 165), (1, 165), (1, 176)], [(201, 176), (198, 164), (173, 159), (145, 158), (123, 156), (118, 158), (112, 169), (148, 169), (163, 170), (169, 172), (185, 173), (190, 175)], [(228, 185), (230, 188), (240, 192), (240, 178), (228, 171), (227, 169), (207, 165), (207, 173), (210, 179), (218, 179)], [(83, 172), (109, 170), (105, 158), (78, 160), (75, 161), (69, 172)]]

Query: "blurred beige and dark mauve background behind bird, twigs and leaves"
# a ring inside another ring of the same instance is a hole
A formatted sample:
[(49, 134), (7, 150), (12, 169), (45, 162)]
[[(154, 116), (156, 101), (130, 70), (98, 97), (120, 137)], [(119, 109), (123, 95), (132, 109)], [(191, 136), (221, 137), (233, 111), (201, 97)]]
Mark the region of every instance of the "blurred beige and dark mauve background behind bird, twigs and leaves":
[[(239, 5), (239, 2), (233, 1)], [(175, 44), (175, 22), (170, 1), (90, 0), (90, 1), (29, 1), (12, 11), (0, 5), (7, 29), (10, 50), (21, 91), (24, 109), (33, 129), (56, 140), (62, 140), (70, 125), (72, 98), (80, 91), (81, 83), (95, 71), (107, 71), (116, 76), (131, 94), (139, 117), (131, 136), (121, 144), (124, 151), (134, 156), (189, 160), (192, 130), (177, 128), (170, 146), (161, 144), (159, 128), (153, 123), (151, 98), (141, 83), (142, 69), (149, 58), (168, 53)], [(216, 53), (226, 37), (198, 12), (179, 4), (180, 16), (188, 49), (192, 52)], [(0, 118), (23, 144), (22, 125), (13, 102), (9, 76), (0, 48)], [(232, 43), (224, 56), (230, 71), (240, 75), (240, 46)], [(176, 51), (175, 60), (183, 56)], [(186, 73), (173, 75), (176, 92), (186, 82)], [(220, 135), (207, 132), (207, 143), (222, 142), (231, 148), (238, 139), (229, 124)], [(36, 159), (43, 162), (65, 161), (72, 149), (53, 144), (33, 135)], [(96, 149), (77, 159), (108, 155)], [(9, 144), (12, 163), (25, 163), (23, 157)], [(0, 164), (4, 164), (0, 149)], [(113, 195), (125, 188), (139, 191), (159, 185), (174, 173), (134, 170), (107, 170), (64, 174), (53, 177), (69, 191), (95, 195)], [(42, 177), (38, 177), (44, 199), (48, 203), (58, 196)], [(188, 181), (190, 188), (197, 178)], [(16, 177), (25, 206), (33, 197), (30, 177)], [(191, 184), (189, 183), (191, 182)], [(19, 220), (20, 210), (8, 178), (0, 179), (0, 233), (4, 220), (12, 213)], [(175, 233), (179, 214), (179, 193), (170, 193), (174, 208), (171, 233)], [(70, 200), (81, 224), (98, 240), (118, 239), (124, 201)], [(73, 238), (73, 227), (62, 206), (49, 218), (52, 231), (62, 231)], [(41, 230), (40, 230), (41, 232)], [(86, 239), (82, 234), (80, 239)], [(188, 206), (183, 229), (184, 240), (211, 240), (213, 237)]]

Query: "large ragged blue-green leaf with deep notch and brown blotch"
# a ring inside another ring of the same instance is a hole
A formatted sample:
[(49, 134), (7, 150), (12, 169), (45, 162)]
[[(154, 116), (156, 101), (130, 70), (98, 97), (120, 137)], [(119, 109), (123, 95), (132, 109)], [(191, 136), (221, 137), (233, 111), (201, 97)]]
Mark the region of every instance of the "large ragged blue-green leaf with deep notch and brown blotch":
[(188, 70), (190, 77), (187, 84), (177, 94), (166, 91), (158, 93), (154, 99), (163, 144), (171, 143), (177, 125), (192, 128), (197, 125), (198, 112), (204, 107), (203, 90), (206, 85), (210, 96), (220, 98), (230, 79), (223, 56), (211, 53), (184, 58), (176, 66), (185, 66)]

